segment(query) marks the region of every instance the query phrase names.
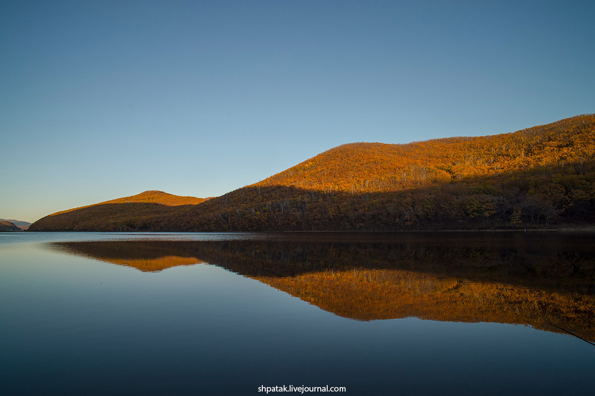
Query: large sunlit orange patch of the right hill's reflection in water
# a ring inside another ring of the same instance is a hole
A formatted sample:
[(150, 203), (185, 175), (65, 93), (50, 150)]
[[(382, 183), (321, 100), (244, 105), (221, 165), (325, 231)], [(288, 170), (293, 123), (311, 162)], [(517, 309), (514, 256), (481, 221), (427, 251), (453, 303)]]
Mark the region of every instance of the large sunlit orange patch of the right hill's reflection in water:
[[(470, 282), (411, 271), (356, 269), (255, 279), (336, 315), (358, 320), (415, 316), (455, 322), (500, 322), (549, 329), (550, 320), (595, 339), (593, 295)], [(583, 323), (577, 323), (583, 322)], [(591, 323), (591, 324), (589, 324)], [(587, 325), (588, 328), (585, 328)]]

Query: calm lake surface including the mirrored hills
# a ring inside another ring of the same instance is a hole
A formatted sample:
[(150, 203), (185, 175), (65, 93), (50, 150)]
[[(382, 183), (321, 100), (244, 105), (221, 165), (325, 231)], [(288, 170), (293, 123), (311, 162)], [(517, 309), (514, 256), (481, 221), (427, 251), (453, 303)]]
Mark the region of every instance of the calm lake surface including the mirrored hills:
[(591, 394), (594, 237), (0, 234), (0, 395)]

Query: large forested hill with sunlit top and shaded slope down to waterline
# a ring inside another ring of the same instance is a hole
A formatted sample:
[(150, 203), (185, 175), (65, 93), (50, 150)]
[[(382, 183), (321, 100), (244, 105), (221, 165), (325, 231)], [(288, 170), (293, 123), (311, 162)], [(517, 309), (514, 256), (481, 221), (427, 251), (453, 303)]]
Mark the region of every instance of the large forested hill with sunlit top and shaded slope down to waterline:
[(115, 201), (54, 213), (30, 230), (584, 227), (595, 223), (595, 115), (494, 136), (344, 144), (201, 203), (140, 210)]

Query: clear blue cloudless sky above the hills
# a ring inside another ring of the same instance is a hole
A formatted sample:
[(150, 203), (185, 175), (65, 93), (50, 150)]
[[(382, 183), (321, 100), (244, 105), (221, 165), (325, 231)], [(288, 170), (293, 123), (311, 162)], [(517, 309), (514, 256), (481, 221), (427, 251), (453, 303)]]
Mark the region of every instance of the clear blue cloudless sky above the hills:
[(0, 218), (595, 112), (595, 1), (2, 1)]

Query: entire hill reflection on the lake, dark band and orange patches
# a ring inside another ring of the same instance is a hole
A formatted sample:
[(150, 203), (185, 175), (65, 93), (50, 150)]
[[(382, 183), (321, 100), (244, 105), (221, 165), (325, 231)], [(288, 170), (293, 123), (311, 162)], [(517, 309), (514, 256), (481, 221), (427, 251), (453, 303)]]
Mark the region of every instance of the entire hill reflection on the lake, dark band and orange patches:
[(358, 320), (415, 316), (554, 325), (595, 340), (592, 234), (279, 234), (269, 240), (99, 241), (54, 249), (160, 271), (208, 262)]

